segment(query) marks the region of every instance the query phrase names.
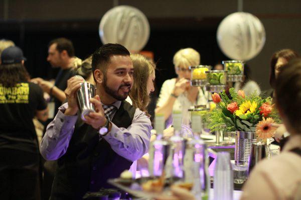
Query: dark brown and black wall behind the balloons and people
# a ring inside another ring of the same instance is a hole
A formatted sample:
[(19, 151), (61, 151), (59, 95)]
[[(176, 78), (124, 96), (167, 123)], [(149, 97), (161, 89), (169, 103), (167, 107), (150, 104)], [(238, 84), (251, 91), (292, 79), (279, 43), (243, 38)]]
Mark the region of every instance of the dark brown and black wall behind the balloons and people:
[[(265, 45), (248, 64), (253, 78), (267, 89), (272, 53), (287, 47), (301, 52), (301, 1), (243, 3), (243, 10), (258, 16), (265, 27)], [(2, 0), (0, 37), (10, 38), (24, 49), (33, 77), (54, 77), (56, 70), (46, 61), (48, 42), (68, 37), (76, 55), (86, 57), (101, 45), (99, 21), (116, 4), (135, 6), (147, 16), (151, 32), (144, 50), (155, 53), (161, 71), (156, 80), (159, 88), (165, 79), (175, 76), (172, 58), (180, 48), (197, 49), (203, 64), (227, 59), (217, 45), (216, 29), (226, 15), (237, 10), (237, 0)]]

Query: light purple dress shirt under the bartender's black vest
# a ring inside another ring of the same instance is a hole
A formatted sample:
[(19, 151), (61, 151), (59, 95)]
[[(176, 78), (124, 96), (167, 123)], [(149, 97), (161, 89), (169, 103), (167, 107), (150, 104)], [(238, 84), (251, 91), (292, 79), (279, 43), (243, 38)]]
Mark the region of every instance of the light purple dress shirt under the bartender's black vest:
[[(121, 101), (113, 103), (117, 108)], [(59, 107), (54, 120), (51, 121), (41, 141), (40, 151), (46, 160), (55, 160), (63, 156), (71, 140), (74, 125), (78, 115), (65, 115), (68, 103)], [(111, 148), (122, 157), (134, 161), (148, 151), (150, 130), (152, 124), (144, 112), (136, 108), (132, 124), (127, 127), (117, 127), (112, 123), (112, 128), (103, 138)]]

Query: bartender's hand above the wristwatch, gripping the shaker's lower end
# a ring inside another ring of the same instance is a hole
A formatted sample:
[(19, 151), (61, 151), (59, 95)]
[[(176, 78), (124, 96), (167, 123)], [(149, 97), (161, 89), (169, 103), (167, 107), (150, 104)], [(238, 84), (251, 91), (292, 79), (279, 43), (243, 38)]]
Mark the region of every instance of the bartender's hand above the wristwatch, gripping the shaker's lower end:
[(96, 111), (85, 115), (85, 122), (90, 124), (93, 128), (98, 129), (104, 126), (107, 119), (104, 115), (99, 96), (96, 95), (95, 98), (90, 98), (90, 102), (94, 104)]

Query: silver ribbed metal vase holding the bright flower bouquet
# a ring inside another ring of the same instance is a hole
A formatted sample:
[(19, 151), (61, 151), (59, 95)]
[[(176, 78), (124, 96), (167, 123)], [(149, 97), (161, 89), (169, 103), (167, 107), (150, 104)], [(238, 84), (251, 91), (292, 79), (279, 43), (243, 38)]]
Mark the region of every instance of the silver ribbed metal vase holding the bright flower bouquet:
[(251, 144), (256, 142), (256, 132), (235, 132), (235, 163), (248, 162), (251, 153)]

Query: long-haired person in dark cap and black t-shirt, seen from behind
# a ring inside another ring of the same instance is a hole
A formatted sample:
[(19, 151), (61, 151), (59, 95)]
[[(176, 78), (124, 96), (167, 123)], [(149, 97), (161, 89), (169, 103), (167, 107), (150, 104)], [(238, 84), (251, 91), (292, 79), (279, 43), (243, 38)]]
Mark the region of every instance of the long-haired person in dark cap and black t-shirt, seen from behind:
[(40, 199), (39, 148), (33, 117), (48, 110), (39, 85), (29, 82), (22, 50), (6, 48), (0, 65), (0, 199)]

